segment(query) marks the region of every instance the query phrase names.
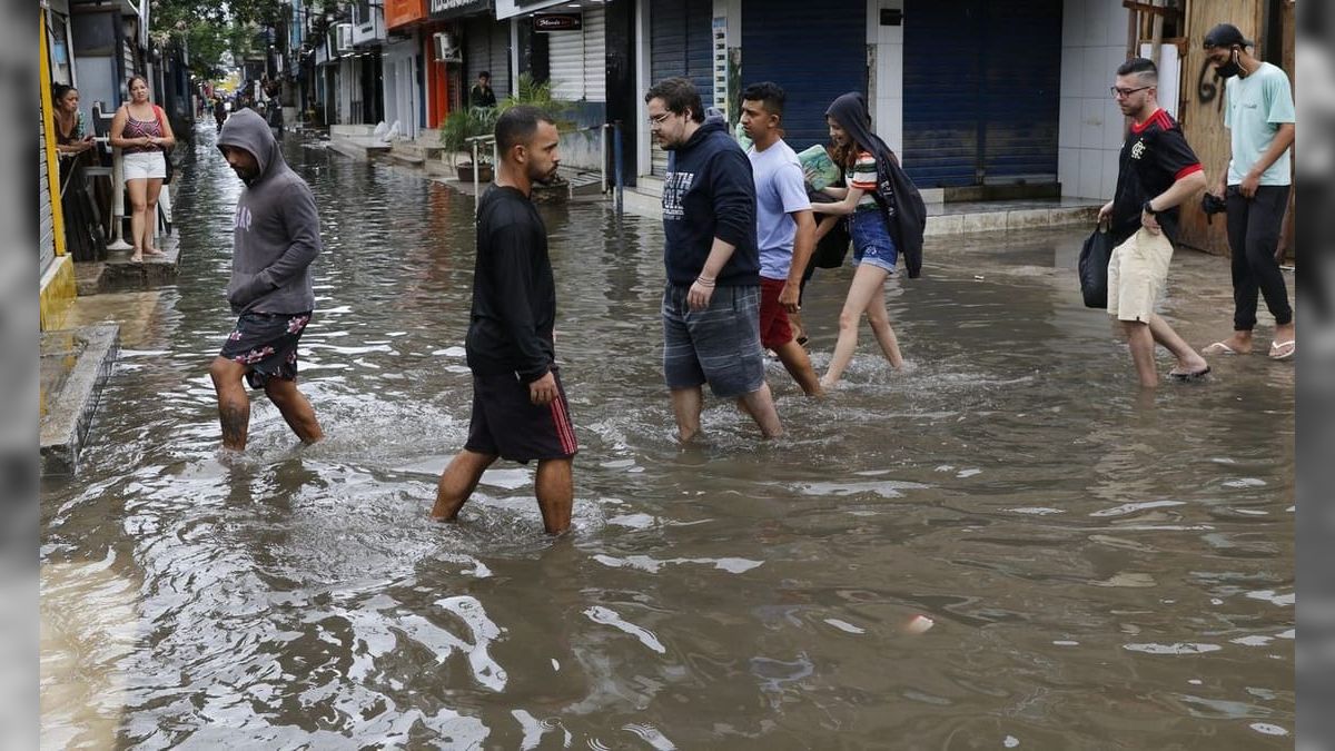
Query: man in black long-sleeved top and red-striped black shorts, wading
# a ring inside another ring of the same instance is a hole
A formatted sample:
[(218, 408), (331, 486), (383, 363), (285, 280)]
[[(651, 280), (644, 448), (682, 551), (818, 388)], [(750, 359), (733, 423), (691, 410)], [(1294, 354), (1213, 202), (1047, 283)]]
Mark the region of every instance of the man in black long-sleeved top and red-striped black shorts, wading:
[(473, 321), (465, 343), (473, 370), (473, 418), (463, 450), (441, 474), (431, 518), (450, 521), (499, 457), (537, 460), (534, 494), (550, 535), (570, 528), (571, 464), (579, 450), (551, 337), (557, 286), (547, 229), (533, 204), (535, 182), (557, 174), (557, 126), (533, 107), (495, 126), (497, 182), (478, 206)]

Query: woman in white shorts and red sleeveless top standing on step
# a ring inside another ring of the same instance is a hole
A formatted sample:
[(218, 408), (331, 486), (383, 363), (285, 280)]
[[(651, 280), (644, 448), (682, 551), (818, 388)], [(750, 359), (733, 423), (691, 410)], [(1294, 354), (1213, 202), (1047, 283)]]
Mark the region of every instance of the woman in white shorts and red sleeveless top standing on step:
[(129, 245), (134, 246), (129, 259), (138, 262), (144, 254), (162, 255), (154, 247), (158, 194), (167, 176), (166, 150), (175, 146), (176, 138), (162, 107), (148, 100), (148, 82), (143, 76), (132, 76), (127, 87), (129, 102), (121, 104), (111, 120), (111, 144), (121, 154), (125, 191), (134, 211), (129, 218)]

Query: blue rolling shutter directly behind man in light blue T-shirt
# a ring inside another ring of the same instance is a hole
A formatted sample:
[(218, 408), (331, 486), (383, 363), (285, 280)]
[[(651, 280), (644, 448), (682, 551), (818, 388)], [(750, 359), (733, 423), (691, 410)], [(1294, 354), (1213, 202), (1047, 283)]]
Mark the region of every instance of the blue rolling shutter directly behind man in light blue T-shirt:
[(866, 94), (865, 39), (864, 0), (742, 0), (742, 88), (784, 87), (784, 140), (797, 151), (825, 143), (830, 102)]

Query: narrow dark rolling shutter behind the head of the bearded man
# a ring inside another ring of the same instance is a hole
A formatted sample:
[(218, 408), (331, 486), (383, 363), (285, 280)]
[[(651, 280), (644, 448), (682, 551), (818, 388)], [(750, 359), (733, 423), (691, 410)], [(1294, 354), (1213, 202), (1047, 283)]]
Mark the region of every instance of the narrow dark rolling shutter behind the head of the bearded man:
[[(714, 96), (710, 64), (713, 0), (654, 0), (649, 8), (649, 75), (654, 82), (685, 76), (696, 84), (700, 99)], [(668, 152), (650, 146), (653, 174), (668, 171)]]

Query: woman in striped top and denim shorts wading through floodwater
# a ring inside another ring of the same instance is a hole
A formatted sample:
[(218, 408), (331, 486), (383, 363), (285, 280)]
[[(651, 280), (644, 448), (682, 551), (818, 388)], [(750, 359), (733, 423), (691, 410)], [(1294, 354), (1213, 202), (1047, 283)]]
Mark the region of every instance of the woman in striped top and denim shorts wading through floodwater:
[[(857, 329), (862, 314), (866, 314), (876, 334), (881, 353), (890, 362), (892, 367), (901, 367), (904, 357), (900, 354), (900, 343), (890, 327), (889, 315), (885, 313), (885, 278), (894, 273), (898, 261), (898, 249), (890, 238), (890, 229), (886, 226), (885, 214), (876, 202), (877, 186), (876, 175), (876, 148), (878, 144), (857, 143), (840, 118), (860, 116), (864, 126), (870, 126), (872, 118), (866, 112), (866, 104), (861, 98), (856, 98), (856, 107), (849, 107), (850, 95), (844, 95), (834, 100), (825, 112), (825, 122), (830, 128), (830, 140), (834, 143), (834, 163), (844, 170), (846, 188), (826, 187), (825, 192), (840, 199), (836, 203), (812, 203), (812, 208), (822, 214), (848, 215), (849, 234), (853, 237), (853, 283), (848, 287), (848, 297), (844, 299), (844, 310), (838, 314), (838, 341), (834, 343), (834, 354), (830, 357), (829, 369), (821, 378), (825, 390), (833, 389), (838, 384), (844, 369), (853, 359), (853, 350), (857, 349)], [(850, 114), (852, 112), (852, 114)], [(869, 132), (869, 127), (860, 128)], [(880, 139), (877, 139), (880, 140)]]

